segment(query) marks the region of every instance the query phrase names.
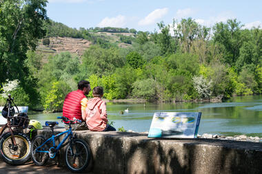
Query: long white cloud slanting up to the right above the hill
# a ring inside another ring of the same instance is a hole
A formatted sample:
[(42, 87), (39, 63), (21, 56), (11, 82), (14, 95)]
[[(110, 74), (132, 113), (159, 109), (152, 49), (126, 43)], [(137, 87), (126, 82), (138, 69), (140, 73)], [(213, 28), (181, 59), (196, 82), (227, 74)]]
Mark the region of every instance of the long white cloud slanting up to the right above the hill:
[(150, 12), (147, 17), (139, 21), (139, 25), (150, 25), (156, 23), (158, 19), (161, 19), (165, 14), (168, 13), (168, 8), (156, 9)]

